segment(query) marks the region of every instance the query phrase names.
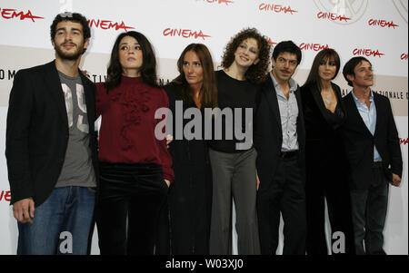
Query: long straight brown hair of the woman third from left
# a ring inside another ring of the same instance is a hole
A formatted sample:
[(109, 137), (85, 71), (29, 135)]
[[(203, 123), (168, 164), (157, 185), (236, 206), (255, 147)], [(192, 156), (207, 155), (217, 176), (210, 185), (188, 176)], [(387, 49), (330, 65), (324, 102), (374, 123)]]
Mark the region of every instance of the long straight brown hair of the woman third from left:
[(203, 84), (202, 89), (200, 90), (200, 101), (202, 102), (203, 108), (214, 108), (217, 106), (217, 87), (214, 75), (214, 64), (212, 54), (210, 54), (205, 44), (189, 44), (186, 46), (185, 50), (177, 60), (177, 70), (180, 74), (172, 81), (172, 83), (182, 84), (182, 88), (178, 89), (178, 91), (180, 92), (182, 100), (187, 102), (192, 94), (192, 90), (189, 83), (186, 81), (184, 72), (185, 54), (189, 51), (193, 51), (197, 54), (203, 68)]

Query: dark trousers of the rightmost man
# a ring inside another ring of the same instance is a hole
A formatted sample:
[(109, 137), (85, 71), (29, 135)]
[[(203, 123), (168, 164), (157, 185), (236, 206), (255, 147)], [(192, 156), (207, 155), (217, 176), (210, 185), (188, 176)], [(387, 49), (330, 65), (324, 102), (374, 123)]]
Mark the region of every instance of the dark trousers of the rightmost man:
[(357, 255), (384, 255), (384, 223), (389, 184), (384, 171), (374, 168), (375, 181), (368, 190), (351, 190), (354, 240)]

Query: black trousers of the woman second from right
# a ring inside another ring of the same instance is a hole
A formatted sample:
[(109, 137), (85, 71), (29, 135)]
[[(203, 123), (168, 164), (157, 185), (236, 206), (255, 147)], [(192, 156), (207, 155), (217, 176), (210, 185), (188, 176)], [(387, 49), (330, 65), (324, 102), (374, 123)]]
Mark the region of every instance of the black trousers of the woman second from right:
[[(336, 167), (336, 166), (335, 166)], [(332, 234), (342, 232), (343, 238), (337, 236), (333, 243), (342, 241), (342, 245), (332, 248), (331, 253), (354, 255), (354, 229), (351, 215), (351, 199), (348, 181), (339, 170), (307, 168), (305, 183), (307, 237), (306, 251), (308, 255), (327, 255), (325, 236), (325, 200)]]

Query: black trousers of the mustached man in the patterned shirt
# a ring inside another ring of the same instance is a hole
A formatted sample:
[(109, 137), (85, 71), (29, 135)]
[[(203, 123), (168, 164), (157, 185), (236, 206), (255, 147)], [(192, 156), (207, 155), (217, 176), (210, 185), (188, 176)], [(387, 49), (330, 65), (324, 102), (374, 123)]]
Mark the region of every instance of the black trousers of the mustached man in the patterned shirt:
[[(263, 183), (263, 181), (260, 181)], [(257, 193), (261, 253), (278, 247), (280, 212), (284, 219), (284, 255), (305, 255), (305, 192), (297, 157), (282, 159), (270, 187)]]

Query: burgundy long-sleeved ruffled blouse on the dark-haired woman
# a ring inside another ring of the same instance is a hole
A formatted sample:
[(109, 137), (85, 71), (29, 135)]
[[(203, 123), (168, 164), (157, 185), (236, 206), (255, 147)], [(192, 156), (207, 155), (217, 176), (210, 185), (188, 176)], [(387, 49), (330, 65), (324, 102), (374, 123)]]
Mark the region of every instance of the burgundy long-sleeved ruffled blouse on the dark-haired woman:
[(155, 138), (155, 111), (169, 107), (165, 91), (143, 82), (142, 77), (122, 76), (119, 86), (106, 93), (96, 83), (96, 115), (102, 115), (99, 160), (122, 163), (156, 163), (165, 180), (174, 180), (172, 157), (166, 140)]

